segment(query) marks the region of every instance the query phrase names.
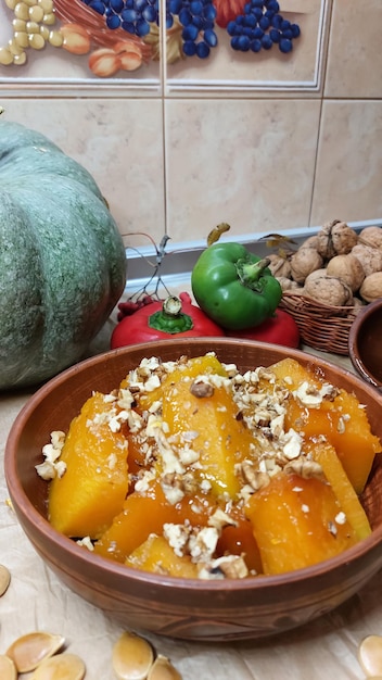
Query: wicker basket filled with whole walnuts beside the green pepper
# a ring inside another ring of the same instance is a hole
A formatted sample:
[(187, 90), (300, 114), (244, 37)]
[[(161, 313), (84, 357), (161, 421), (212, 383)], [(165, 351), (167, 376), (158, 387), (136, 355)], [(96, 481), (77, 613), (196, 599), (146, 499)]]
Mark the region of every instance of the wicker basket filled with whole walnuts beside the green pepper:
[(382, 227), (358, 234), (334, 219), (298, 250), (269, 259), (283, 290), (280, 307), (295, 319), (303, 342), (347, 355), (354, 318), (382, 298)]

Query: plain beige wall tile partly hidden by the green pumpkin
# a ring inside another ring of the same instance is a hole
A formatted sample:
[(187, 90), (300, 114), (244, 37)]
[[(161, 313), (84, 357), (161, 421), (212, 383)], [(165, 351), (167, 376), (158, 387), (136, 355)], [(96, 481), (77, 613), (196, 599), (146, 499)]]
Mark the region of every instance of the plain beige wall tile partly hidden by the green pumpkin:
[(143, 231), (156, 240), (163, 236), (160, 100), (37, 99), (2, 104), (8, 119), (43, 133), (93, 175), (123, 235)]

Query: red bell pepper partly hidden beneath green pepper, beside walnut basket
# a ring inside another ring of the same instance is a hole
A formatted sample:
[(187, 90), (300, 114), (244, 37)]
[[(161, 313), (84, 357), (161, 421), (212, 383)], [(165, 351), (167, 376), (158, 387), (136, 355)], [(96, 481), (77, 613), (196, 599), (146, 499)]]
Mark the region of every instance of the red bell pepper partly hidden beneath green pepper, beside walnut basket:
[(244, 330), (226, 330), (226, 335), (231, 338), (245, 338), (247, 340), (258, 340), (260, 342), (272, 342), (288, 348), (298, 348), (300, 330), (293, 316), (280, 310), (276, 310), (275, 315), (267, 318), (259, 326), (245, 328)]

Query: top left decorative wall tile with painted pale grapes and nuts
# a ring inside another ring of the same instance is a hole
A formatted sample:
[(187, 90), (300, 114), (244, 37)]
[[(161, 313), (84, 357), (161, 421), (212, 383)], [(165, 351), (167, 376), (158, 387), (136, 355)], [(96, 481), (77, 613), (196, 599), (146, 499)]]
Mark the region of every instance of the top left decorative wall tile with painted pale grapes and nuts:
[(107, 21), (84, 0), (0, 0), (0, 86), (24, 96), (158, 92), (151, 45)]

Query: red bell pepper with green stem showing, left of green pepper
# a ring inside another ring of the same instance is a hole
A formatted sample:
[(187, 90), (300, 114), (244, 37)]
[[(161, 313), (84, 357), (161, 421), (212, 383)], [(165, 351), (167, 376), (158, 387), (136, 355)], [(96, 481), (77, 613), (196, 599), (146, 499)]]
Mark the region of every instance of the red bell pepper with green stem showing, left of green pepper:
[(113, 330), (111, 348), (187, 336), (221, 337), (225, 332), (183, 292), (179, 298), (170, 295), (164, 302), (143, 304), (133, 314), (122, 318)]

